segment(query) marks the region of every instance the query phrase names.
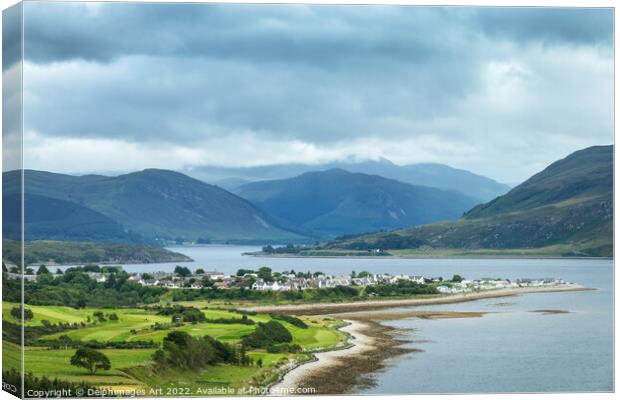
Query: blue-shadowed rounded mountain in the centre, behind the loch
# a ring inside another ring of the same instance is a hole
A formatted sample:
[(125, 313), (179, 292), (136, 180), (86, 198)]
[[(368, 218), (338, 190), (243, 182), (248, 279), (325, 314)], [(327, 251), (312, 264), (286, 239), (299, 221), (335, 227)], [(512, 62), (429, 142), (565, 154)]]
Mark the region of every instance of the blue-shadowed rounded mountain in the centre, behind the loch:
[(342, 169), (248, 183), (235, 192), (266, 213), (319, 236), (456, 219), (476, 204), (456, 191)]

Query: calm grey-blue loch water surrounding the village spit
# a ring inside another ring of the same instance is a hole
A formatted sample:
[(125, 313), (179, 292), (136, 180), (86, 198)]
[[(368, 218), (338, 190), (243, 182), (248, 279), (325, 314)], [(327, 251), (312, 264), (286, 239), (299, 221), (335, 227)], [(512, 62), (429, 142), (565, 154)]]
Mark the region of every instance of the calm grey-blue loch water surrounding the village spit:
[[(405, 319), (410, 346), (423, 352), (396, 358), (374, 375), (364, 394), (564, 392), (613, 390), (613, 262), (610, 260), (301, 259), (241, 256), (257, 247), (171, 248), (192, 263), (128, 265), (128, 271), (171, 271), (175, 265), (234, 273), (275, 271), (410, 273), (467, 278), (558, 277), (594, 287), (590, 292), (541, 293), (419, 310), (483, 311), (482, 318)], [(558, 309), (570, 314), (530, 311)]]

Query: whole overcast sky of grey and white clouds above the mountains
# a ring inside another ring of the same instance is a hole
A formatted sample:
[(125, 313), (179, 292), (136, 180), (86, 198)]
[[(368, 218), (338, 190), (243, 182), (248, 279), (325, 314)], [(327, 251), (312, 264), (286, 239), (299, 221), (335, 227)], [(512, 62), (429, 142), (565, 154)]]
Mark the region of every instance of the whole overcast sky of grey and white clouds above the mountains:
[(24, 166), (387, 158), (518, 183), (613, 142), (612, 32), (610, 9), (27, 2)]

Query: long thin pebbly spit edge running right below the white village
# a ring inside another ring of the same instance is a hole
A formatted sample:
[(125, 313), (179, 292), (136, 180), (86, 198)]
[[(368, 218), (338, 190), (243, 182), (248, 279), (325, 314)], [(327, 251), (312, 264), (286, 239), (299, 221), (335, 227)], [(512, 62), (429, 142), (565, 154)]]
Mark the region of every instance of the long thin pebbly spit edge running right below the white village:
[(392, 308), (401, 306), (417, 306), (417, 305), (435, 305), (435, 304), (452, 304), (462, 303), (466, 301), (474, 301), (478, 299), (489, 299), (495, 297), (518, 296), (526, 293), (553, 293), (553, 292), (577, 292), (596, 290), (578, 285), (561, 286), (561, 287), (531, 287), (521, 289), (494, 289), (481, 292), (469, 292), (443, 295), (431, 298), (405, 298), (393, 300), (366, 300), (349, 303), (312, 303), (312, 304), (293, 304), (280, 306), (256, 306), (241, 307), (247, 311), (259, 313), (287, 313), (296, 315), (319, 315), (344, 313), (349, 311), (363, 311), (380, 308)]

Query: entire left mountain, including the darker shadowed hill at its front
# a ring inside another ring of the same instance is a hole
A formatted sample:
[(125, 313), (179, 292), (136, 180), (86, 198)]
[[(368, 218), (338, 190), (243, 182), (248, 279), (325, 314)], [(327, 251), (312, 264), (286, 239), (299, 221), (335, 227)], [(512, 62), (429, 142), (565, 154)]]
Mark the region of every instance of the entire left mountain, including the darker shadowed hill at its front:
[[(4, 174), (4, 196), (16, 194), (11, 190), (18, 177), (15, 172)], [(302, 237), (281, 228), (248, 201), (172, 171), (106, 177), (27, 170), (25, 187), (27, 239), (111, 241), (122, 237), (121, 232), (129, 236), (123, 241), (137, 235), (148, 240), (216, 241)]]

